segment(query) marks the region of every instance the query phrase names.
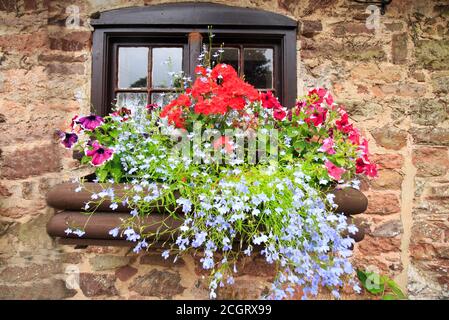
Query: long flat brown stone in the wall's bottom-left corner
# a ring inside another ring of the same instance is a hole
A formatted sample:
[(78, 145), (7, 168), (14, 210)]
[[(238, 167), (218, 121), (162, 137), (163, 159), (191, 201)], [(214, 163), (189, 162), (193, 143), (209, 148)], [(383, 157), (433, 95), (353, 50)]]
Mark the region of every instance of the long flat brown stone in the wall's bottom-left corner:
[(0, 284), (0, 299), (12, 300), (60, 300), (71, 298), (76, 290), (67, 289), (63, 280), (50, 279), (29, 285)]

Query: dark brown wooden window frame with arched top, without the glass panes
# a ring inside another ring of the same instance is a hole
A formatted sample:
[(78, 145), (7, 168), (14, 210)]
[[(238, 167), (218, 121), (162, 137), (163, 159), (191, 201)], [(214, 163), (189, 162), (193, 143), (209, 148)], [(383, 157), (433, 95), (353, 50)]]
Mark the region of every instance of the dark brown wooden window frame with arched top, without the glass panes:
[(226, 39), (238, 39), (243, 44), (245, 39), (248, 42), (257, 39), (258, 43), (278, 45), (280, 52), (274, 65), (279, 65), (279, 70), (274, 72), (279, 74), (279, 83), (274, 87), (285, 106), (295, 103), (297, 22), (286, 16), (219, 4), (176, 3), (111, 10), (95, 18), (91, 20), (94, 27), (91, 101), (97, 114), (106, 115), (110, 111), (115, 72), (111, 60), (117, 42), (128, 45), (154, 41), (159, 45), (179, 39), (185, 44), (184, 70), (193, 77), (208, 26), (213, 27), (218, 39), (215, 44), (224, 41), (226, 45)]

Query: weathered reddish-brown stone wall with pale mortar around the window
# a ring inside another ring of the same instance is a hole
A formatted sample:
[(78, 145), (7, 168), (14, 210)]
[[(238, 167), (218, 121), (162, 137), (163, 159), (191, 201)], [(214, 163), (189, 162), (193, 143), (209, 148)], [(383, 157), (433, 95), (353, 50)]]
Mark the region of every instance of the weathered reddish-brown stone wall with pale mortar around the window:
[[(56, 128), (90, 108), (96, 11), (169, 1), (0, 0), (0, 298), (206, 298), (198, 258), (56, 245), (45, 194), (85, 169)], [(173, 2), (173, 1), (171, 1)], [(449, 3), (393, 0), (379, 28), (347, 0), (229, 0), (297, 19), (298, 92), (322, 85), (370, 138), (380, 177), (364, 181), (368, 236), (354, 263), (389, 274), (410, 298), (449, 297)], [(81, 27), (66, 27), (67, 7)], [(80, 288), (67, 289), (76, 266)], [(257, 298), (272, 271), (260, 258), (221, 297)]]

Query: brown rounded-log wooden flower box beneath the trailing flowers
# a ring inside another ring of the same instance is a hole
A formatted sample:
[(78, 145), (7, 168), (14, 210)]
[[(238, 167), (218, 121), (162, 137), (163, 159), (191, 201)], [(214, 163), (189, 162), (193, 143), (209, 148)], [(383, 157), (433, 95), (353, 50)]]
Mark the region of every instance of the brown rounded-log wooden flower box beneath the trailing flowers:
[[(47, 224), (47, 233), (56, 238), (61, 244), (78, 246), (87, 245), (114, 245), (132, 246), (133, 242), (126, 241), (123, 237), (114, 238), (109, 231), (120, 226), (122, 219), (130, 217), (131, 209), (119, 205), (116, 210), (112, 210), (110, 201), (105, 200), (94, 214), (89, 214), (83, 210), (85, 203), (91, 199), (91, 192), (100, 192), (103, 188), (100, 184), (86, 182), (85, 188), (80, 192), (75, 192), (78, 187), (74, 183), (62, 183), (55, 186), (47, 194), (48, 206), (55, 209), (55, 215)], [(120, 196), (124, 192), (124, 184), (113, 186), (115, 194)], [(89, 190), (89, 191), (86, 191)], [(347, 216), (363, 213), (368, 206), (368, 199), (357, 189), (345, 188), (332, 191), (335, 195), (334, 202), (338, 205), (337, 213), (344, 213)], [(141, 218), (142, 225), (149, 225), (146, 231), (156, 232), (174, 229), (182, 224), (182, 220), (176, 220), (168, 216), (163, 206), (156, 207), (150, 215)], [(82, 237), (74, 234), (66, 234), (65, 230), (71, 226), (83, 226), (86, 232)], [(159, 240), (169, 240), (168, 235), (161, 235)], [(351, 235), (356, 242), (364, 238), (363, 228), (355, 235)]]

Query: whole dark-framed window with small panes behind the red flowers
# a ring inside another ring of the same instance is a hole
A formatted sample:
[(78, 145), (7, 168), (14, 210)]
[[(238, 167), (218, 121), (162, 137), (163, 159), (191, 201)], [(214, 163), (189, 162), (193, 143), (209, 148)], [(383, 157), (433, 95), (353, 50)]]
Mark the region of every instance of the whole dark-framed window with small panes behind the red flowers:
[(98, 114), (109, 113), (115, 101), (166, 104), (175, 94), (170, 74), (194, 77), (208, 26), (222, 62), (258, 90), (274, 91), (285, 106), (296, 99), (297, 23), (282, 15), (179, 3), (111, 10), (97, 14), (91, 24), (92, 104)]

